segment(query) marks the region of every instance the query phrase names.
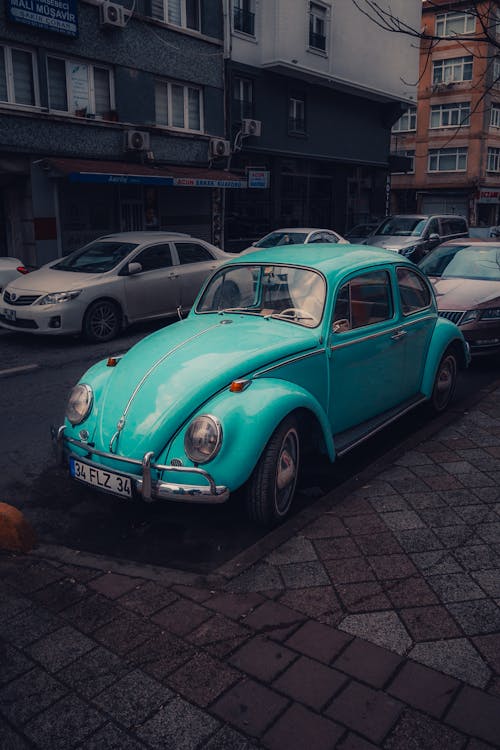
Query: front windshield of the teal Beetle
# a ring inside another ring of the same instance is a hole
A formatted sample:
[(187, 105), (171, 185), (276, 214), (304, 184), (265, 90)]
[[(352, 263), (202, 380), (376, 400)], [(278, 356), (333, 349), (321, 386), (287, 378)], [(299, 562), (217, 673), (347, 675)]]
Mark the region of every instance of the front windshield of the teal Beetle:
[(326, 298), (321, 274), (295, 266), (229, 266), (210, 280), (197, 313), (243, 313), (319, 325)]

